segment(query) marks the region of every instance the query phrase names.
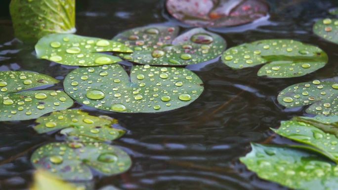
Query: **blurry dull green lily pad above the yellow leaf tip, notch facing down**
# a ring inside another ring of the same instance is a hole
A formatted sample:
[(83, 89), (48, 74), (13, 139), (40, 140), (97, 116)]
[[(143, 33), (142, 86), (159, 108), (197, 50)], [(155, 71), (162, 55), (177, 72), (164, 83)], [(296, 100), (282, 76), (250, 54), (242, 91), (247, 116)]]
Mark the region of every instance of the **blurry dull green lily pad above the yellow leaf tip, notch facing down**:
[(110, 176), (127, 171), (131, 165), (128, 154), (102, 143), (50, 143), (37, 149), (31, 161), (38, 169), (45, 169), (69, 181), (91, 180), (90, 169)]

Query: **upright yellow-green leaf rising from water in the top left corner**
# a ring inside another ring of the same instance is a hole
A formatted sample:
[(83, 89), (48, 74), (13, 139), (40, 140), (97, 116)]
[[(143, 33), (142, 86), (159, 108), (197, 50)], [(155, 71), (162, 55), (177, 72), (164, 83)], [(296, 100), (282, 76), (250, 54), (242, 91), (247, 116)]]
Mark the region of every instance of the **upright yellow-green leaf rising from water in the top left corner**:
[(75, 0), (11, 0), (15, 36), (36, 42), (53, 33), (74, 33)]

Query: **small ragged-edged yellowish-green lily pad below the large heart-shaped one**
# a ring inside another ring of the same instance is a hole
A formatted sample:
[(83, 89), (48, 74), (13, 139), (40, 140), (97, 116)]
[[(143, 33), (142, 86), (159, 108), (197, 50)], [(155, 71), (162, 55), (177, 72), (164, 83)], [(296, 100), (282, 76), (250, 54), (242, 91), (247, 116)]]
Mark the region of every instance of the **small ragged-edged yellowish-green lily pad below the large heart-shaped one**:
[(40, 123), (34, 127), (38, 133), (63, 129), (61, 134), (66, 135), (68, 141), (112, 141), (124, 134), (123, 130), (111, 127), (118, 124), (116, 119), (92, 116), (81, 110), (53, 112), (49, 116), (40, 117), (36, 122)]

